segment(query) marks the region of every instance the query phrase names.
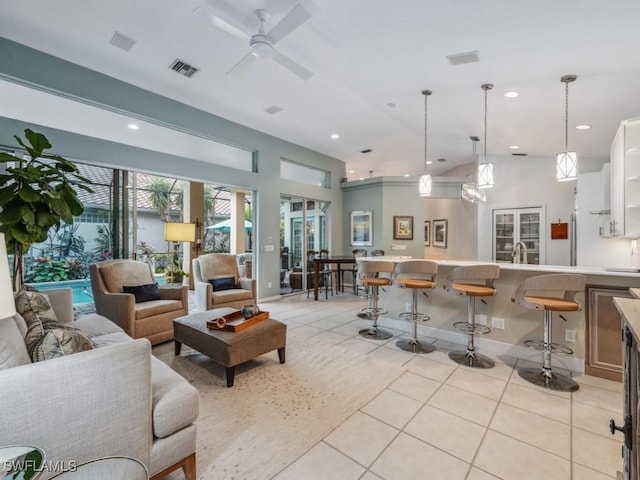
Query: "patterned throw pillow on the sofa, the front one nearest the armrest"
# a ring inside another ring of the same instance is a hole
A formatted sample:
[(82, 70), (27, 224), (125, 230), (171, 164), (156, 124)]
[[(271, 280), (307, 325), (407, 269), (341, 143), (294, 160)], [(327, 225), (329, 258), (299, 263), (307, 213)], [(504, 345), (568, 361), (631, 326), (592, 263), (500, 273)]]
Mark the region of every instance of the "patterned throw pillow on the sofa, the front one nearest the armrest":
[(30, 340), (30, 343), (27, 343), (27, 351), (32, 362), (63, 357), (93, 348), (91, 339), (82, 330), (44, 317), (38, 317), (29, 327), (25, 341), (27, 338)]

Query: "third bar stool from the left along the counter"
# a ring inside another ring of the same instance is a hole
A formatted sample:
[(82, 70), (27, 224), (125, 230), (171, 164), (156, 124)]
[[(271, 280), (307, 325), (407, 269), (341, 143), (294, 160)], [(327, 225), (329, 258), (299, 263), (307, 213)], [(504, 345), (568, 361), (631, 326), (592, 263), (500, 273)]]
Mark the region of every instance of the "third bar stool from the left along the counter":
[(476, 353), (474, 340), (476, 335), (491, 331), (486, 325), (476, 325), (476, 297), (493, 297), (496, 294), (493, 281), (499, 276), (499, 265), (483, 264), (454, 268), (447, 277), (445, 290), (467, 297), (467, 321), (453, 324), (456, 330), (467, 334), (467, 350), (449, 353), (449, 358), (460, 365), (474, 368), (491, 368), (495, 365), (489, 357)]

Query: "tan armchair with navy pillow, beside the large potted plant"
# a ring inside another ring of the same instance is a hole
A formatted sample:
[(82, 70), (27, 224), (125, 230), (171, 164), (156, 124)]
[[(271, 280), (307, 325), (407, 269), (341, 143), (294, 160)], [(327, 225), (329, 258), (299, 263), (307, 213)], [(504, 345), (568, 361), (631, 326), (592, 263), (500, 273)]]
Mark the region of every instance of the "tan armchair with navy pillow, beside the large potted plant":
[(172, 340), (173, 320), (189, 313), (188, 287), (141, 288), (156, 282), (148, 263), (106, 260), (90, 265), (89, 272), (96, 311), (133, 338), (153, 345)]

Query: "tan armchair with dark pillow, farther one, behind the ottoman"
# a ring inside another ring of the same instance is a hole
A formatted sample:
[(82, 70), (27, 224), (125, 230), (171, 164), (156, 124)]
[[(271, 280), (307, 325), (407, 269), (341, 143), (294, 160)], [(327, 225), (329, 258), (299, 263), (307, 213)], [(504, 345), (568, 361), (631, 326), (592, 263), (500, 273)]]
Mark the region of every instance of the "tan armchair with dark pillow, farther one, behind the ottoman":
[(194, 258), (192, 266), (196, 308), (199, 312), (257, 303), (256, 281), (240, 277), (235, 255), (207, 253)]

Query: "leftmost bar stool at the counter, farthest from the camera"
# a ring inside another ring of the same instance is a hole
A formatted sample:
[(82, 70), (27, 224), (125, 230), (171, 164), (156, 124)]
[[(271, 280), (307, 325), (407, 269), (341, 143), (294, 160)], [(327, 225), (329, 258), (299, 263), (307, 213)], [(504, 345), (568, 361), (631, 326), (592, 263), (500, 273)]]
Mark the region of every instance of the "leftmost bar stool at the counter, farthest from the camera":
[[(380, 287), (391, 285), (391, 275), (394, 268), (395, 264), (393, 262), (386, 261), (360, 262), (358, 266), (358, 278), (367, 289), (371, 287), (368, 306), (363, 308), (362, 311), (366, 312), (367, 317), (373, 320), (373, 324), (371, 327), (364, 328), (358, 332), (363, 337), (386, 340), (393, 336), (391, 332), (378, 328), (378, 317), (389, 313), (388, 310), (378, 307), (378, 293)], [(389, 276), (381, 277), (381, 273), (387, 273)]]

